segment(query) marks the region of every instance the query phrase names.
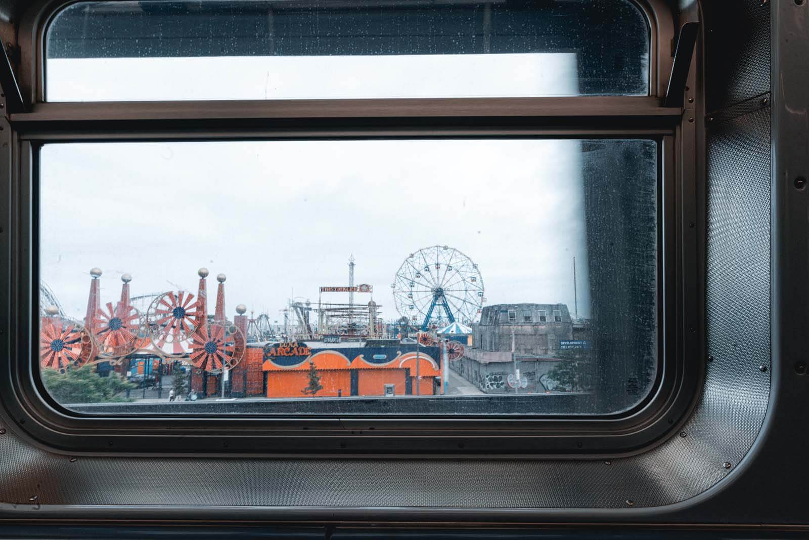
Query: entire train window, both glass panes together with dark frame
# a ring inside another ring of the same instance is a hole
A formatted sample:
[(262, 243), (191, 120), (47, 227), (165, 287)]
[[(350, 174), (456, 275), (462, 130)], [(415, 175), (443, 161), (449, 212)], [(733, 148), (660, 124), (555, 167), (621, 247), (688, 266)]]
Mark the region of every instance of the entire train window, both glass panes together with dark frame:
[(0, 384), (41, 440), (624, 452), (687, 410), (667, 11), (58, 3), (9, 130), (38, 339)]

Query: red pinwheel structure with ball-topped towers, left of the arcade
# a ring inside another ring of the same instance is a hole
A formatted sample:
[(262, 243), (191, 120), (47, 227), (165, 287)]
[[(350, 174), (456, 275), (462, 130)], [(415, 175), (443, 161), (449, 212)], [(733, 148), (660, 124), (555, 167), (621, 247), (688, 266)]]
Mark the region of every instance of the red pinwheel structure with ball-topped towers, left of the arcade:
[[(224, 308), (225, 275), (218, 274), (214, 318), (207, 316), (205, 279), (201, 268), (197, 296), (188, 291), (167, 291), (154, 297), (146, 313), (139, 313), (129, 298), (132, 277), (123, 274), (121, 300), (100, 305), (101, 270), (92, 279), (84, 322), (70, 321), (57, 305), (45, 308), (40, 327), (40, 365), (66, 372), (68, 368), (107, 363), (122, 366), (135, 352), (146, 351), (164, 360), (179, 360), (207, 373), (222, 374), (235, 368), (244, 356), (247, 317), (239, 305), (235, 322), (227, 321)], [(119, 368), (119, 371), (121, 369)], [(222, 377), (222, 387), (227, 376)], [(224, 389), (222, 389), (224, 392)]]

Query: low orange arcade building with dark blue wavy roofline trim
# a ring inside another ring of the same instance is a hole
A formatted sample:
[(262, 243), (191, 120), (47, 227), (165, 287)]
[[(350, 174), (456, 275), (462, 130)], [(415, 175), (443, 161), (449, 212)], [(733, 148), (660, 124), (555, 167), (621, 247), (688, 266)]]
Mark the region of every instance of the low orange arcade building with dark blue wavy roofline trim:
[(436, 395), (441, 393), (438, 347), (400, 343), (366, 347), (363, 342), (248, 344), (244, 362), (260, 364), (267, 398), (303, 398), (310, 363), (320, 377), (314, 397)]

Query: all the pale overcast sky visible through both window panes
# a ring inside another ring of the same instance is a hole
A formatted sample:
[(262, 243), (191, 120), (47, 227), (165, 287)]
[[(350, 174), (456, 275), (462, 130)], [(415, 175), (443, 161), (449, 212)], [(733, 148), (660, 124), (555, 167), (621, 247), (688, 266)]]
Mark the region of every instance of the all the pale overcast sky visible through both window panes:
[[(572, 54), (417, 58), (429, 62), (51, 60), (48, 97), (519, 96), (577, 87)], [(125, 272), (138, 296), (196, 291), (205, 266), (210, 311), (223, 273), (228, 317), (243, 303), (280, 320), (290, 296), (316, 303), (318, 287), (347, 285), (353, 254), (356, 283), (373, 285), (391, 320), (399, 314), (390, 284), (404, 258), (447, 244), (477, 262), (488, 304), (563, 302), (571, 313), (577, 257), (578, 313), (588, 317), (578, 149), (525, 139), (53, 143), (41, 152), (42, 278), (80, 318), (93, 266), (104, 270), (104, 303), (118, 299)]]

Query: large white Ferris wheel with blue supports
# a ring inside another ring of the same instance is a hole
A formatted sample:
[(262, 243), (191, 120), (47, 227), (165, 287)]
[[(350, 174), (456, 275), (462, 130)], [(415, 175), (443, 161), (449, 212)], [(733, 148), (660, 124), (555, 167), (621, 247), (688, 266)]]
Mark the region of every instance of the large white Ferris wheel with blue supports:
[(396, 271), (391, 288), (396, 311), (421, 330), (475, 322), (486, 301), (477, 264), (447, 245), (410, 253)]

